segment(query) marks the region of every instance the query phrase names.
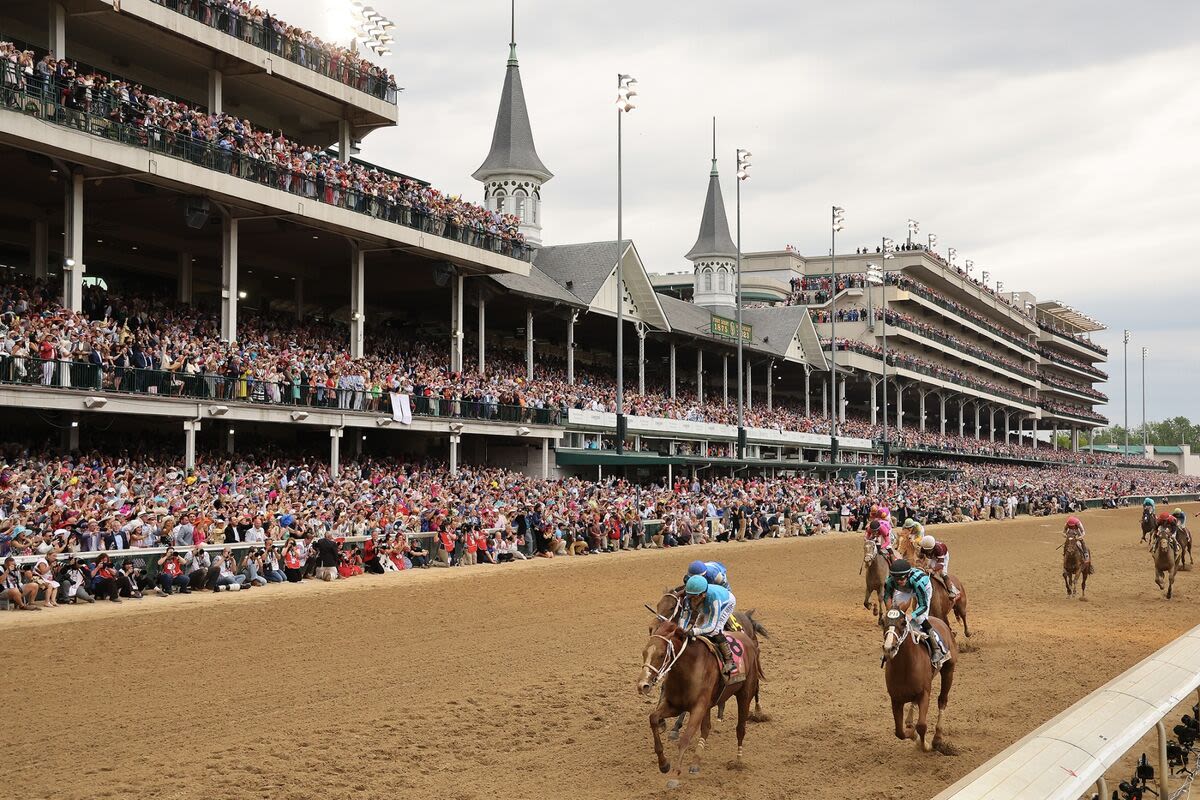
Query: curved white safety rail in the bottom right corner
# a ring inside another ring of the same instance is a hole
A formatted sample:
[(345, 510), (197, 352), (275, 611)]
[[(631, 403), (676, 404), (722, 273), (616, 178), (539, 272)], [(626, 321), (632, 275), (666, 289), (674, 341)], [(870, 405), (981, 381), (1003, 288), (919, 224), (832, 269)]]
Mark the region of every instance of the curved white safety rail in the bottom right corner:
[[(1096, 690), (953, 784), (934, 800), (1079, 800), (1158, 728), (1157, 776), (1165, 778), (1160, 724), (1200, 687), (1200, 626)], [(1165, 794), (1165, 793), (1164, 793)], [(1106, 800), (1106, 799), (1105, 799)]]

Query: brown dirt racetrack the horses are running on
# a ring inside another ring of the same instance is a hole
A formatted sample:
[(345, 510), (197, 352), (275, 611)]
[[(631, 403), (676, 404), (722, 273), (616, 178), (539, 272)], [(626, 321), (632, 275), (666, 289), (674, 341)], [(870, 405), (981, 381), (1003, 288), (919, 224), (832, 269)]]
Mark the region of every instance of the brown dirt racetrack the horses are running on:
[[(928, 798), (1200, 621), (1200, 570), (1165, 601), (1136, 510), (1084, 523), (1086, 602), (1062, 588), (1063, 517), (931, 529), (974, 633), (953, 754), (893, 736), (859, 537), (832, 535), (2, 614), (6, 784), (88, 800)], [(697, 557), (724, 560), (770, 630), (772, 718), (750, 726), (740, 769), (732, 717), (715, 723), (703, 772), (667, 790), (634, 687), (642, 603)]]

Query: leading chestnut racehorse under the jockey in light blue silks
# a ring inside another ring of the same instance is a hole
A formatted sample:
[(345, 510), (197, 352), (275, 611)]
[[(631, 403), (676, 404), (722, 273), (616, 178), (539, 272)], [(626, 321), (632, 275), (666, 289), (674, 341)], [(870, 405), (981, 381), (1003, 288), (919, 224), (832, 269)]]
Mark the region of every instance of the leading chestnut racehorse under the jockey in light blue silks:
[(700, 772), (701, 751), (712, 730), (712, 709), (730, 697), (736, 697), (738, 700), (738, 759), (742, 758), (750, 700), (758, 692), (762, 666), (758, 660), (758, 645), (749, 633), (734, 631), (728, 636), (733, 638), (734, 652), (739, 648), (742, 650), (742, 669), (745, 670), (745, 680), (732, 686), (722, 681), (720, 656), (704, 642), (688, 637), (684, 630), (671, 620), (660, 621), (642, 649), (642, 674), (637, 681), (637, 691), (648, 696), (652, 688), (662, 685), (659, 703), (649, 717), (650, 733), (654, 735), (654, 754), (658, 757), (660, 772), (670, 771), (671, 762), (662, 754), (659, 726), (668, 717), (688, 712), (688, 724), (679, 735), (674, 774), (677, 777), (682, 774), (684, 757), (695, 739), (696, 747), (688, 770), (695, 775)]

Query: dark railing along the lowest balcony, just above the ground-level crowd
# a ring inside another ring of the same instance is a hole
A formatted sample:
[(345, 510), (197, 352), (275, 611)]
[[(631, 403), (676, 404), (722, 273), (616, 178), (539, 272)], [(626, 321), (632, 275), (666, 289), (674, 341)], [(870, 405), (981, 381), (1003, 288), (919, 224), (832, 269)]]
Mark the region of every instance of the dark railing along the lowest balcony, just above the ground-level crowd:
[[(0, 355), (0, 384), (391, 415), (391, 401), (383, 387), (340, 389), (299, 381), (260, 380), (248, 375), (190, 374), (79, 361), (48, 361), (32, 356)], [(409, 401), (413, 416), (554, 426), (562, 425), (563, 420), (563, 414), (557, 408), (539, 409), (420, 395), (410, 396)]]

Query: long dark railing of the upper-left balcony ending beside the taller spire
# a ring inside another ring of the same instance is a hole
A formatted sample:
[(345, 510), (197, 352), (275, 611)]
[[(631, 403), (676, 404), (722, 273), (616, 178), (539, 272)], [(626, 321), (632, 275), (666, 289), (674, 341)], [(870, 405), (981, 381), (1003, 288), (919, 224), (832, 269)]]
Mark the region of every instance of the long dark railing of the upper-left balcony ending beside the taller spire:
[(4, 107), (11, 112), (29, 114), (108, 142), (187, 161), (197, 167), (212, 169), (308, 200), (335, 205), (340, 209), (392, 222), (517, 260), (528, 261), (530, 258), (530, 251), (523, 242), (488, 234), (470, 221), (458, 221), (452, 216), (444, 217), (404, 205), (407, 198), (397, 200), (396, 197), (346, 190), (341, 185), (326, 182), (319, 173), (308, 175), (283, 169), (256, 156), (198, 140), (167, 128), (120, 122), (110, 118), (110, 114), (116, 113), (115, 106), (107, 103), (102, 97), (94, 98), (88, 109), (67, 106), (60, 103), (58, 96), (43, 94), (41, 82), (30, 82), (22, 86), (20, 83), (10, 82), (8, 77), (10, 73), (4, 72), (0, 100), (2, 100)]

